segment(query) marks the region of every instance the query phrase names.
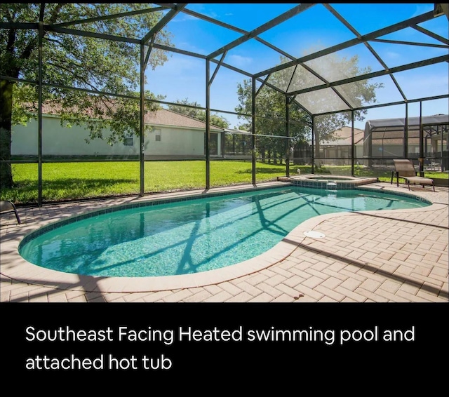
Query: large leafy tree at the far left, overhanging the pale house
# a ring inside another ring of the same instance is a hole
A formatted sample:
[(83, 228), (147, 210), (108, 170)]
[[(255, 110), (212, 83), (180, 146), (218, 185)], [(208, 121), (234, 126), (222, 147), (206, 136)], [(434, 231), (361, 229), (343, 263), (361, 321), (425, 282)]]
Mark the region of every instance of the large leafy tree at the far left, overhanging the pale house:
[[(139, 95), (140, 46), (123, 41), (53, 32), (50, 25), (73, 20), (98, 18), (149, 8), (147, 4), (45, 4), (43, 14), (43, 100), (58, 103), (61, 123), (88, 127), (91, 139), (102, 137), (109, 128), (110, 142), (126, 133), (140, 133)], [(1, 22), (38, 22), (40, 4), (1, 4)], [(98, 34), (141, 39), (159, 19), (158, 12), (137, 13), (122, 18), (91, 20), (75, 28)], [(46, 28), (47, 27), (47, 28)], [(73, 26), (69, 26), (73, 28)], [(170, 45), (170, 34), (161, 30), (157, 41)], [(1, 74), (13, 79), (38, 79), (37, 29), (11, 27), (0, 29)], [(153, 49), (148, 65), (153, 69), (167, 59), (166, 53)], [(94, 91), (135, 96), (135, 100), (114, 98), (98, 93), (58, 88), (68, 86)], [(151, 99), (152, 94), (146, 93)], [(11, 160), (11, 129), (14, 123), (26, 123), (36, 114), (37, 85), (0, 81), (0, 159)], [(111, 106), (111, 103), (114, 106)], [(154, 107), (145, 105), (151, 111)], [(90, 112), (86, 112), (90, 109)], [(87, 114), (88, 113), (88, 114)], [(93, 122), (93, 118), (96, 122)], [(0, 163), (1, 187), (12, 187), (11, 165)]]

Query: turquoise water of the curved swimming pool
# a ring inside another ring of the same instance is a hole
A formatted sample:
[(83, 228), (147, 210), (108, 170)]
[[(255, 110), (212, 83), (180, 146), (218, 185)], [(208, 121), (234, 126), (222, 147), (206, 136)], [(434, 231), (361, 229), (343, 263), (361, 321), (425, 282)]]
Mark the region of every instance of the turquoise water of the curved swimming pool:
[(342, 211), (429, 203), (371, 191), (276, 188), (118, 210), (21, 243), (28, 262), (91, 276), (169, 276), (260, 255), (304, 220)]

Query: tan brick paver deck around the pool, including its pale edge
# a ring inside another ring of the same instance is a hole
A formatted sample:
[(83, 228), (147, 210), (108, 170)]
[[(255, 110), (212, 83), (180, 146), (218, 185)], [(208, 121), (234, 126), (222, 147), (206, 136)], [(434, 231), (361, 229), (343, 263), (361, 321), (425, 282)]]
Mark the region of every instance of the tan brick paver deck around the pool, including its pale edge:
[[(408, 193), (406, 184), (369, 188)], [(91, 276), (41, 278), (41, 268), (23, 267), (17, 253), (29, 230), (136, 198), (19, 208), (21, 225), (13, 214), (1, 217), (1, 302), (448, 302), (448, 188), (410, 189), (417, 200), (433, 205), (321, 215), (286, 236), (266, 260), (257, 257), (260, 263), (248, 267), (249, 274), (242, 275), (243, 267), (237, 267), (235, 276), (223, 281), (159, 290), (137, 280), (119, 285)], [(325, 237), (306, 237), (303, 230)], [(128, 290), (135, 292), (124, 292)]]

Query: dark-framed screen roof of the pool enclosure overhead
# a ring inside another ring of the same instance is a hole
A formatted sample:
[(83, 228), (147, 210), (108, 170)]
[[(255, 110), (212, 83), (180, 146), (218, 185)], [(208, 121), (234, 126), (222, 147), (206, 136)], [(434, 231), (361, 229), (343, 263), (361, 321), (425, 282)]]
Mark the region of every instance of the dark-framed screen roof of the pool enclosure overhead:
[[(95, 4), (83, 4), (80, 9), (91, 7), (91, 13), (72, 22), (51, 21), (49, 5), (36, 5), (40, 13), (30, 20), (2, 17), (0, 28), (37, 32), (40, 23), (47, 35), (123, 41), (144, 46), (147, 54), (154, 48), (206, 60), (208, 84), (223, 69), (237, 72), (242, 79), (255, 79), (257, 92), (277, 90), (311, 115), (449, 97), (445, 4), (430, 5), (431, 11), (427, 4), (425, 12), (413, 4), (142, 4), (139, 11), (120, 15), (98, 15), (102, 11)], [(159, 22), (137, 29), (133, 37), (114, 36), (107, 31), (109, 22), (101, 25), (114, 18), (135, 22), (137, 13), (154, 13)], [(93, 21), (101, 31), (89, 27)], [(192, 21), (209, 27), (208, 35), (194, 36)], [(159, 41), (162, 29), (175, 27), (182, 28), (173, 46)], [(358, 67), (351, 67), (354, 59)], [(423, 78), (421, 89), (410, 88), (409, 73), (415, 69), (439, 83)], [(358, 93), (366, 83), (383, 85), (389, 94), (378, 95), (373, 105), (369, 95)]]

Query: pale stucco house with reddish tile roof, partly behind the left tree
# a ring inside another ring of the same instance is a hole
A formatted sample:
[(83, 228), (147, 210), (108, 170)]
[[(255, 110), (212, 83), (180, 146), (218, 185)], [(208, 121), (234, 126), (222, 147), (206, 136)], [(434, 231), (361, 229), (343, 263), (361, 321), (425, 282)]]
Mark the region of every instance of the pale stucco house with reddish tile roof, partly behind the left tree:
[[(203, 158), (206, 123), (189, 116), (159, 109), (145, 114), (145, 159), (195, 159)], [(107, 130), (103, 136), (107, 137)], [(222, 156), (223, 128), (210, 126), (210, 155)], [(95, 138), (89, 141), (88, 130), (81, 126), (62, 127), (55, 106), (43, 105), (42, 154), (43, 156), (138, 156), (140, 138), (129, 136), (123, 142), (108, 144)], [(88, 142), (86, 142), (88, 141)], [(27, 126), (13, 126), (11, 154), (37, 156), (38, 124), (31, 120)]]

